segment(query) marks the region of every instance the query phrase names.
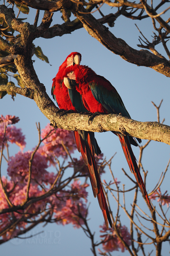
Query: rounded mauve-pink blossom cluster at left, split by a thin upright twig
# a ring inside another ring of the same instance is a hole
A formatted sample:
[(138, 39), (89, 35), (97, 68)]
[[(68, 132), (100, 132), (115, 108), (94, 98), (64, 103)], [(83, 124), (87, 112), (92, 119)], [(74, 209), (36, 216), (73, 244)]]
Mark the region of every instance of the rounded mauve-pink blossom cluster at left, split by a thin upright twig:
[[(32, 151), (24, 153), (19, 151), (15, 154), (15, 157), (11, 156), (8, 162), (8, 175), (11, 177), (12, 181), (19, 182), (21, 187), (24, 187), (28, 181), (29, 160), (31, 158), (31, 154)], [(47, 167), (45, 157), (36, 152), (32, 161), (31, 182), (33, 184), (36, 183), (36, 181), (39, 183), (48, 182), (48, 172), (46, 171)]]

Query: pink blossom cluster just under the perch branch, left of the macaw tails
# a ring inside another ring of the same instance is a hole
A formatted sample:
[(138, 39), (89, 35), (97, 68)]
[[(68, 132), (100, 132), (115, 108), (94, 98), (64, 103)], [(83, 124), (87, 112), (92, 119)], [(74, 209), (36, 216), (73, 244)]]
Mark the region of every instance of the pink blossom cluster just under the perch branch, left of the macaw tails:
[[(46, 125), (45, 129), (42, 129), (42, 139), (45, 138), (48, 133), (53, 130), (49, 124)], [(76, 147), (74, 139), (74, 133), (72, 131), (66, 131), (64, 129), (54, 129), (50, 135), (43, 141), (44, 147), (43, 152), (47, 156), (67, 156), (66, 151), (62, 146), (62, 142), (68, 148), (70, 153), (73, 153)]]

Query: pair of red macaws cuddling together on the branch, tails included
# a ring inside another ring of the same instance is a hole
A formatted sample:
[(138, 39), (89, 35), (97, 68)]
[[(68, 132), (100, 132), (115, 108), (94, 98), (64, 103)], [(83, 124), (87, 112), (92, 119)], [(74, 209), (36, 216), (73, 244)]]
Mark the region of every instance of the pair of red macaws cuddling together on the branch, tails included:
[[(80, 65), (81, 54), (72, 52), (62, 65), (56, 77), (53, 79), (51, 94), (60, 109), (72, 110), (75, 113), (91, 112), (119, 114), (130, 118), (121, 97), (111, 83), (85, 65)], [(128, 162), (130, 171), (134, 173), (136, 181), (145, 196), (149, 207), (152, 209), (144, 182), (140, 175), (136, 158), (130, 144), (137, 146), (131, 136), (124, 136), (119, 132), (112, 131), (119, 137), (123, 152)], [(104, 195), (100, 176), (96, 167), (95, 154), (101, 150), (94, 138), (93, 132), (74, 131), (76, 144), (87, 166), (94, 197), (97, 196), (102, 210), (106, 227), (108, 221), (112, 227), (110, 212)], [(138, 139), (141, 142), (141, 139)]]

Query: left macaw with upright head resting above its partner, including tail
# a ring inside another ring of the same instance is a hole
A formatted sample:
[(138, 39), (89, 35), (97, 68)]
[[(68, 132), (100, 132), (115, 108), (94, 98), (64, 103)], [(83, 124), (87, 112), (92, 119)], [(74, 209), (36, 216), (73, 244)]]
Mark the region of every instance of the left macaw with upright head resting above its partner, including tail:
[[(79, 92), (77, 92), (76, 89), (70, 90), (64, 85), (62, 74), (66, 68), (79, 65), (80, 62), (80, 53), (72, 52), (70, 55), (68, 55), (63, 64), (60, 65), (59, 71), (53, 79), (53, 85), (51, 89), (53, 99), (57, 102), (59, 108), (66, 111), (72, 110), (75, 113), (88, 112), (88, 110), (83, 106)], [(95, 154), (97, 156), (98, 154), (101, 154), (101, 150), (97, 144), (96, 139), (94, 138), (93, 132), (78, 130), (74, 131), (74, 136), (76, 139), (77, 149), (79, 152), (81, 152), (83, 160), (87, 166), (94, 197), (97, 196), (98, 198), (99, 206), (102, 210), (106, 223), (106, 228), (108, 229), (108, 221), (111, 227), (112, 221), (94, 158)]]

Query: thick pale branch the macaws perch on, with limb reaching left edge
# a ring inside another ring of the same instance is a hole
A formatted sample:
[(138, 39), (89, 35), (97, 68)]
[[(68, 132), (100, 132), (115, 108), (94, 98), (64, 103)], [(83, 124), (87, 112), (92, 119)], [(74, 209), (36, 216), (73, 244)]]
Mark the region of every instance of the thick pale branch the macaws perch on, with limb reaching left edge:
[[(35, 85), (35, 83), (34, 83)], [(21, 89), (14, 86), (1, 85), (0, 91), (14, 91), (29, 98), (34, 98), (41, 112), (50, 120), (54, 127), (66, 130), (85, 130), (93, 132), (126, 131), (128, 134), (140, 139), (161, 141), (170, 145), (170, 127), (157, 122), (139, 122), (120, 115), (98, 115), (89, 125), (88, 115), (67, 114), (61, 118), (57, 116), (57, 107), (45, 92), (42, 84), (33, 90)], [(42, 87), (42, 89), (41, 89)], [(33, 88), (32, 88), (33, 89)], [(40, 91), (41, 90), (41, 91)]]

